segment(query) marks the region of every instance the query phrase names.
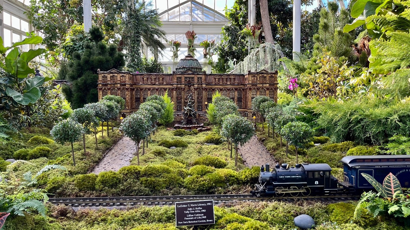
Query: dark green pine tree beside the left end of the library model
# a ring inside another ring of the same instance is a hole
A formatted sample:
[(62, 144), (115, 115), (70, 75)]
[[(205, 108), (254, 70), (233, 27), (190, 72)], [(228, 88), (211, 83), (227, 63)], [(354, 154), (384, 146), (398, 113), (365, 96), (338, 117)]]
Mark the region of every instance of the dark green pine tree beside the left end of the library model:
[(104, 34), (99, 27), (90, 29), (92, 43), (84, 45), (84, 51), (75, 52), (68, 61), (67, 79), (71, 88), (64, 86), (64, 94), (73, 108), (98, 101), (97, 70), (121, 70), (125, 65), (124, 54), (117, 51), (117, 45), (103, 42)]

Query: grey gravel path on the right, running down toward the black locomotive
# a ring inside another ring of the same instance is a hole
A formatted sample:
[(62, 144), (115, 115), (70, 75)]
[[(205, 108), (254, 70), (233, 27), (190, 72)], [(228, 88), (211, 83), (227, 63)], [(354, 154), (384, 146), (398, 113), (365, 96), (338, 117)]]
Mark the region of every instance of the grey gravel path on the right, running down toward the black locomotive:
[(254, 165), (261, 166), (266, 163), (273, 166), (275, 165), (275, 159), (265, 149), (263, 144), (257, 140), (256, 136), (253, 136), (251, 140), (244, 144), (244, 146), (239, 146), (238, 151), (244, 160), (244, 164), (248, 167), (252, 167)]

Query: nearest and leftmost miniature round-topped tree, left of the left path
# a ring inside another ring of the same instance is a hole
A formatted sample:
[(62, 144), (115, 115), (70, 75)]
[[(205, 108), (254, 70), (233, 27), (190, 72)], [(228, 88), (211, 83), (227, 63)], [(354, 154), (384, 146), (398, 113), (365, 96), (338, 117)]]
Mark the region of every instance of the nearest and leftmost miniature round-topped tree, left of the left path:
[(75, 166), (74, 146), (73, 142), (81, 139), (83, 127), (78, 122), (71, 119), (63, 120), (56, 124), (50, 131), (52, 138), (61, 144), (71, 142), (71, 155), (73, 156), (73, 163)]

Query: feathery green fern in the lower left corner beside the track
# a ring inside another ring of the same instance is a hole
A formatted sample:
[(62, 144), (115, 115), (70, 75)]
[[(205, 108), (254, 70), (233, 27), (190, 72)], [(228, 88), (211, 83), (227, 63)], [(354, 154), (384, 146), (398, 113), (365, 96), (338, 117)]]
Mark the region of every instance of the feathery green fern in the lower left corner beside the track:
[(46, 165), (36, 174), (27, 172), (23, 178), (18, 178), (15, 169), (21, 164), (31, 164), (24, 160), (17, 160), (7, 166), (7, 170), (0, 172), (0, 212), (8, 212), (11, 216), (24, 216), (26, 213), (38, 213), (46, 216), (45, 203), (48, 196), (43, 189), (35, 188), (37, 178), (52, 169), (67, 170), (59, 165)]

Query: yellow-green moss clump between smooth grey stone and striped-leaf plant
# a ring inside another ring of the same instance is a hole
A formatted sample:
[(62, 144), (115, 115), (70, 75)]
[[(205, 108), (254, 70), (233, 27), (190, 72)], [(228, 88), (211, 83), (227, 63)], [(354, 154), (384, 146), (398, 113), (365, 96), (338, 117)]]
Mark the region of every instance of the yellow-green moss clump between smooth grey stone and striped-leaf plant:
[(351, 203), (334, 203), (327, 206), (330, 213), (329, 219), (336, 223), (349, 223), (353, 219), (356, 205)]

